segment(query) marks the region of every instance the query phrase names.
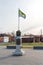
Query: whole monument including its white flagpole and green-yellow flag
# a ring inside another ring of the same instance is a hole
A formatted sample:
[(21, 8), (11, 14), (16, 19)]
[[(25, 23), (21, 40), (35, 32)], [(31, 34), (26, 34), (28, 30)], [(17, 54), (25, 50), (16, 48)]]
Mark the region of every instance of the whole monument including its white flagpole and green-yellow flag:
[(26, 15), (19, 9), (18, 10), (18, 30), (16, 31), (16, 50), (13, 53), (13, 55), (16, 56), (22, 56), (24, 55), (24, 51), (21, 48), (22, 46), (22, 37), (21, 37), (21, 31), (20, 31), (20, 18), (19, 17), (23, 17), (24, 19), (26, 18)]

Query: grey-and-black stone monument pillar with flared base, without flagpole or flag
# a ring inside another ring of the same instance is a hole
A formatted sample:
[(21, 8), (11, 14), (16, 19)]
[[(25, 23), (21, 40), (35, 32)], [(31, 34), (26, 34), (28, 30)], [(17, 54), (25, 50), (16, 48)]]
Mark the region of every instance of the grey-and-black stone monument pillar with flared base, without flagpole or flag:
[(13, 53), (16, 56), (22, 56), (24, 55), (24, 51), (21, 49), (22, 46), (22, 38), (21, 38), (21, 32), (18, 30), (16, 32), (16, 50)]

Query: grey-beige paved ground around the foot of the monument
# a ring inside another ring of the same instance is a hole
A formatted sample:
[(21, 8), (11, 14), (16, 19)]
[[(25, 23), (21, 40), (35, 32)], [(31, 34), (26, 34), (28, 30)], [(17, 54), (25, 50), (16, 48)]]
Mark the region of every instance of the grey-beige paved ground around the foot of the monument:
[(0, 65), (43, 65), (43, 50), (23, 50), (24, 56), (12, 56), (14, 49), (0, 47)]

